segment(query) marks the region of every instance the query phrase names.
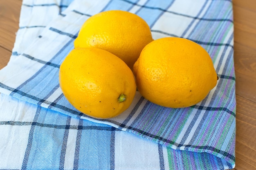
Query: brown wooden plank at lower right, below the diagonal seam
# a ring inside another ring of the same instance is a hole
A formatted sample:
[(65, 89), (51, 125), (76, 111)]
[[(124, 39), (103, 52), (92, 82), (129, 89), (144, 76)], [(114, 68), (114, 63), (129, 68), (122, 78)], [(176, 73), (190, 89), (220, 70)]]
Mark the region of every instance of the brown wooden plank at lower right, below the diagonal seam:
[[(236, 96), (236, 170), (256, 169), (256, 104)], [(242, 163), (243, 164), (240, 164)]]

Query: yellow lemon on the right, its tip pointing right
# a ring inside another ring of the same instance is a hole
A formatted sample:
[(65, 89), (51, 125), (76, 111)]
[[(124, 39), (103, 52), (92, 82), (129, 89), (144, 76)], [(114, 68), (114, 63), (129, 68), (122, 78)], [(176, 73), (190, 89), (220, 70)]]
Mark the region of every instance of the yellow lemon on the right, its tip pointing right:
[(207, 51), (184, 38), (150, 42), (141, 51), (133, 70), (141, 95), (171, 108), (189, 107), (202, 101), (218, 79)]

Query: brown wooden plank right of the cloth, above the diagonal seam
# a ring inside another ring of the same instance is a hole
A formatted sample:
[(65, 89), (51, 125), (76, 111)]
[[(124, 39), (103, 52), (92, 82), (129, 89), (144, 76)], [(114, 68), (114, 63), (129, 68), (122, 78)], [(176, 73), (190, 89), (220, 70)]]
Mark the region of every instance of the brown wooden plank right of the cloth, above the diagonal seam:
[[(251, 3), (250, 3), (251, 2)], [(236, 94), (256, 102), (256, 5), (234, 0)]]

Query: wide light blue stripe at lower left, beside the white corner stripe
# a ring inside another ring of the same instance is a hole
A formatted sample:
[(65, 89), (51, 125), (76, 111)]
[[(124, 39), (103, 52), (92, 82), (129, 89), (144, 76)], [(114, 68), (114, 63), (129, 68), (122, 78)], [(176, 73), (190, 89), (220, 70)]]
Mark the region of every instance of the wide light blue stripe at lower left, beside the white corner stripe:
[[(33, 144), (27, 162), (27, 169), (44, 169), (51, 164), (52, 169), (59, 169), (62, 157), (62, 147), (65, 146), (67, 136), (66, 115), (56, 114), (52, 110), (42, 108), (38, 117), (39, 123), (64, 125), (63, 128), (48, 128), (36, 126), (33, 134)], [(54, 136), (52, 135), (54, 134)], [(65, 141), (63, 141), (65, 139)], [(63, 144), (64, 143), (64, 144)], [(64, 155), (65, 156), (65, 155)]]

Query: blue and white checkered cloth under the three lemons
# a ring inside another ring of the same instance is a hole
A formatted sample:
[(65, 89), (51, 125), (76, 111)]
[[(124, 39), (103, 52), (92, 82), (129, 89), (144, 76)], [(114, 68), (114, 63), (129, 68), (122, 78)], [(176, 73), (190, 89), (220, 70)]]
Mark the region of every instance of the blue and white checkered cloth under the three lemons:
[[(119, 9), (153, 38), (193, 40), (220, 79), (200, 103), (165, 108), (136, 93), (118, 117), (94, 119), (67, 102), (58, 71), (85, 20)], [(0, 71), (0, 169), (224, 170), (235, 166), (236, 99), (231, 0), (23, 0)]]

